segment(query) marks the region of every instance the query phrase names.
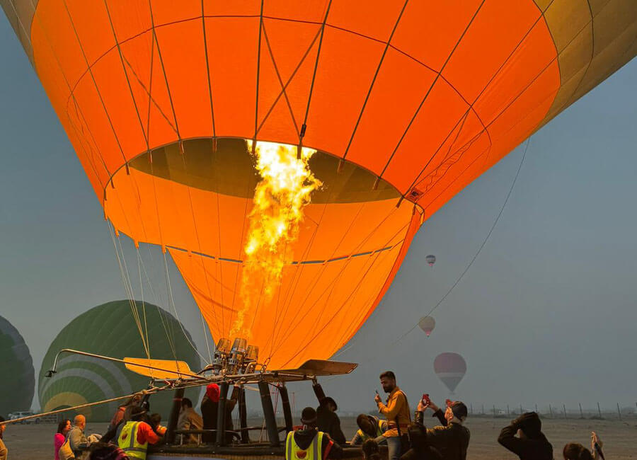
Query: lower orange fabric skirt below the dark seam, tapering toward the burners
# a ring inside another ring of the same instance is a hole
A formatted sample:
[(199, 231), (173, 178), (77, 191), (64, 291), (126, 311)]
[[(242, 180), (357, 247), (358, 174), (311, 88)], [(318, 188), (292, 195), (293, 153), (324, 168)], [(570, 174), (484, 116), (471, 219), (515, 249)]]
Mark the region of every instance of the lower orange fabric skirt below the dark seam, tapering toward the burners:
[[(391, 238), (399, 243), (404, 233)], [(331, 357), (355, 330), (377, 297), (398, 255), (399, 246), (351, 259), (326, 264), (287, 265), (274, 299), (260, 305), (253, 321), (250, 343), (260, 347), (262, 357), (271, 357), (270, 368), (294, 367), (309, 357)], [(212, 293), (207, 284), (219, 267), (225, 280), (233, 283), (238, 263), (212, 260), (200, 255), (171, 251), (173, 260), (215, 338), (226, 337), (235, 316), (234, 309), (222, 306), (219, 291)], [(208, 272), (208, 281), (201, 265)], [(240, 268), (239, 268), (240, 270)], [(224, 285), (226, 299), (231, 288)], [(212, 294), (212, 295), (210, 295)], [(226, 308), (224, 308), (226, 307)]]

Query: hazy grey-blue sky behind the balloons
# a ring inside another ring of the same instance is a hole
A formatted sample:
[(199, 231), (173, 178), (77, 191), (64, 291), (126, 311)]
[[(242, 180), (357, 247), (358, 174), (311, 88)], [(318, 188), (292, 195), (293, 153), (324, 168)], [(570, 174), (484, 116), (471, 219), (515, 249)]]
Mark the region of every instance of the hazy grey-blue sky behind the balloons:
[[(37, 371), (60, 329), (92, 306), (125, 298), (125, 290), (98, 200), (0, 16), (0, 314), (23, 334)], [(379, 308), (338, 355), (360, 366), (325, 382), (340, 408), (373, 408), (384, 369), (394, 369), (414, 402), (424, 392), (442, 401), (448, 392), (432, 363), (444, 351), (466, 358), (455, 397), (474, 409), (635, 404), (636, 82), (633, 59), (532, 137), (505, 212), (435, 311), (434, 333), (425, 340), (414, 330), (394, 345), (478, 250), (522, 148), (425, 222)], [(434, 268), (428, 253), (437, 255)], [(144, 254), (165, 289), (161, 252)], [(193, 300), (171, 275), (180, 319), (207, 354)], [(166, 306), (165, 294), (158, 301)]]

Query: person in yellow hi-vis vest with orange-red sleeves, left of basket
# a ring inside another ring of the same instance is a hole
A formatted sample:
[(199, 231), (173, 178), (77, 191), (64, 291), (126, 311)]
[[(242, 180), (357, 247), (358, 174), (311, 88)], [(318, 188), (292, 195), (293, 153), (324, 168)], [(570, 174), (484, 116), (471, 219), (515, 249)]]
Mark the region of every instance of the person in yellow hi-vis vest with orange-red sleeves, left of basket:
[(117, 427), (117, 445), (130, 459), (146, 460), (148, 444), (157, 444), (161, 439), (151, 425), (142, 421), (145, 415), (146, 411), (139, 406), (127, 408), (124, 420)]

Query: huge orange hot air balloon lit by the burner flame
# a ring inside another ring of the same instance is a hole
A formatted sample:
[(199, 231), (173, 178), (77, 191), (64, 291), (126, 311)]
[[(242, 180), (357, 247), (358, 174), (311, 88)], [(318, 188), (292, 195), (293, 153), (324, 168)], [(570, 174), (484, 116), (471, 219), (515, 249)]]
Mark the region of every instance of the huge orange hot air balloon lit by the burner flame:
[(258, 181), (243, 139), (317, 151), (247, 319), (270, 367), (330, 357), (420, 224), (637, 50), (633, 0), (1, 4), (105, 217), (168, 248), (217, 338)]

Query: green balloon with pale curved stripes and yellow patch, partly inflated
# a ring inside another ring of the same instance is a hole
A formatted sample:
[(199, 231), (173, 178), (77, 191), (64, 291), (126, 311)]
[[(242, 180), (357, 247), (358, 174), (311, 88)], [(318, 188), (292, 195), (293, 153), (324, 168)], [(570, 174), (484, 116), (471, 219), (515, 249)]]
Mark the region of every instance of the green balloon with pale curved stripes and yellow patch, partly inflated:
[[(177, 357), (187, 362), (192, 369), (199, 369), (199, 357), (188, 343), (188, 340), (192, 342), (190, 334), (184, 330), (184, 335), (176, 318), (152, 304), (136, 302), (136, 305), (139, 324), (151, 358), (175, 360)], [(145, 347), (134, 318), (137, 315), (132, 313), (130, 301), (112, 301), (86, 311), (59, 332), (40, 369), (38, 396), (43, 411), (126, 396), (146, 389), (148, 378), (128, 371), (123, 364), (66, 353), (60, 355), (57, 374), (51, 378), (46, 377), (55, 355), (63, 348), (117, 359), (146, 358)], [(190, 391), (187, 396), (196, 401), (197, 394), (196, 391)], [(168, 414), (172, 398), (171, 392), (151, 396), (151, 410)], [(92, 421), (109, 421), (117, 404), (118, 402), (114, 402), (79, 409), (79, 413), (84, 413)]]

